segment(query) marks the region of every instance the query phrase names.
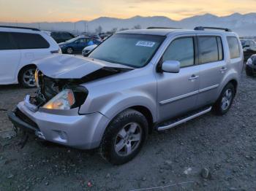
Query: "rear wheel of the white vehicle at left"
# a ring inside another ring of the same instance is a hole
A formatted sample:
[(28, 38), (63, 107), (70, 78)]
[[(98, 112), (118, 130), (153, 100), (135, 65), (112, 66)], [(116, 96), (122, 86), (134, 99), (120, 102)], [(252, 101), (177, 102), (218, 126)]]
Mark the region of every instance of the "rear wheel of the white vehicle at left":
[(26, 88), (36, 87), (36, 81), (34, 79), (34, 72), (36, 71), (36, 66), (27, 66), (22, 69), (18, 76), (18, 81), (20, 85)]

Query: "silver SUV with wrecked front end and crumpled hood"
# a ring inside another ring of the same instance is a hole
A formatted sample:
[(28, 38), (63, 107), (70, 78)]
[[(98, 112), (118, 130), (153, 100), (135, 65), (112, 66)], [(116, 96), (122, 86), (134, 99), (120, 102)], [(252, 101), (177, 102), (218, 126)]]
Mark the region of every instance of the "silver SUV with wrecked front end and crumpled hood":
[(243, 51), (227, 29), (151, 28), (118, 32), (87, 58), (53, 55), (35, 64), (37, 95), (10, 112), (15, 127), (69, 147), (99, 148), (110, 163), (122, 164), (151, 130), (211, 110), (225, 114)]

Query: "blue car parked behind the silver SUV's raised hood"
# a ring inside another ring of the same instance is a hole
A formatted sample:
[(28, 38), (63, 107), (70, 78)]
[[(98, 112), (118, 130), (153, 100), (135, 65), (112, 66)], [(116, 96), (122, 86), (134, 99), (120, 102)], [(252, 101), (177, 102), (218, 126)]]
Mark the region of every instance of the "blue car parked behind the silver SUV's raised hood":
[(74, 39), (70, 39), (67, 42), (62, 42), (59, 44), (61, 47), (61, 51), (63, 53), (72, 54), (72, 53), (80, 53), (85, 47), (88, 47), (93, 44), (100, 44), (101, 42), (97, 39), (85, 37), (85, 36), (78, 36)]

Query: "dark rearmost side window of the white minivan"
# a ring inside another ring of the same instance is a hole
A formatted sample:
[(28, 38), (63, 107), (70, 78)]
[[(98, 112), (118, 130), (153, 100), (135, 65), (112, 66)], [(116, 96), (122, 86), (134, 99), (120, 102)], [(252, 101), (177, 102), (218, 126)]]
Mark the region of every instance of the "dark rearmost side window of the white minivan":
[(19, 49), (48, 48), (50, 44), (39, 34), (10, 33)]

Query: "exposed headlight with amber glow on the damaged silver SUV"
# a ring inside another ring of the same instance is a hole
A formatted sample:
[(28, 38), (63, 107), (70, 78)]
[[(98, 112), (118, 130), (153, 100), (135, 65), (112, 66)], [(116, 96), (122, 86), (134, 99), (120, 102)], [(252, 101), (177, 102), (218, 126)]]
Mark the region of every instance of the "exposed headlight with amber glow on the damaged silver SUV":
[(42, 107), (46, 109), (71, 109), (74, 104), (75, 96), (72, 90), (67, 89), (57, 94)]

